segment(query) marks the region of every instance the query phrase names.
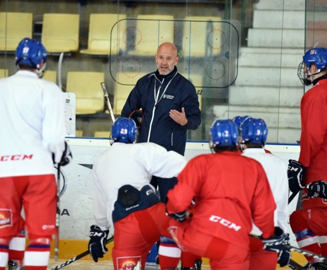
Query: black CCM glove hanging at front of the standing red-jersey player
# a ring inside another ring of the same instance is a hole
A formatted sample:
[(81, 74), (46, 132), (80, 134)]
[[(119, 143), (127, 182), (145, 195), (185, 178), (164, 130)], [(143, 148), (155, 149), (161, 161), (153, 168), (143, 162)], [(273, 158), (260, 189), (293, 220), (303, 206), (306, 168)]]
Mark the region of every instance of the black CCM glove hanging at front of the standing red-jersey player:
[(301, 189), (305, 188), (304, 173), (306, 167), (295, 160), (289, 160), (287, 175), (288, 175), (288, 185), (293, 193), (299, 192)]

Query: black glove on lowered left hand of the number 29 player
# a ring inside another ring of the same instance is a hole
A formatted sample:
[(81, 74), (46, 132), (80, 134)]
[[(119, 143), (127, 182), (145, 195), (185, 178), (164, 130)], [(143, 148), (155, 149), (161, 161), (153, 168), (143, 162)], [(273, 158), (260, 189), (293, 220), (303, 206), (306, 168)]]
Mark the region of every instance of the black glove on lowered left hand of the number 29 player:
[(106, 247), (108, 234), (109, 230), (102, 231), (98, 225), (92, 225), (90, 228), (88, 250), (95, 262), (98, 262), (98, 258), (103, 258), (103, 255), (108, 252)]

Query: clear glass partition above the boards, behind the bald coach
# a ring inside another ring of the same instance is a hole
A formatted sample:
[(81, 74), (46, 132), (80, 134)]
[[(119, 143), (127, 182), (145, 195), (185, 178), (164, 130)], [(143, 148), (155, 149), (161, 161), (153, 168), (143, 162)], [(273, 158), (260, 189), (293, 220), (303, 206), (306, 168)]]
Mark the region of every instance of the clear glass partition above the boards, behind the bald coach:
[(111, 122), (100, 83), (120, 116), (137, 79), (156, 70), (158, 45), (170, 41), (178, 48), (178, 71), (195, 85), (202, 112), (189, 140), (208, 140), (216, 118), (250, 115), (266, 121), (269, 143), (293, 144), (300, 137), (305, 91), (297, 66), (305, 47), (324, 43), (325, 4), (317, 2), (3, 1), (0, 77), (16, 72), (14, 51), (21, 38), (42, 39), (49, 51), (45, 79), (67, 97), (76, 95), (69, 110), (76, 122), (67, 128), (76, 137), (108, 137)]

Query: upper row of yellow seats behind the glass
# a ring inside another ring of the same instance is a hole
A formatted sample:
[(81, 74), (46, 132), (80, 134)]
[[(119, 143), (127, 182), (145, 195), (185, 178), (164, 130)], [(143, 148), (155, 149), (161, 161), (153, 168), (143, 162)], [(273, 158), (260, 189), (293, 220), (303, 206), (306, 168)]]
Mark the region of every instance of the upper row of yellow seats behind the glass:
[[(204, 56), (206, 47), (214, 53), (224, 42), (219, 17), (186, 16), (183, 26), (184, 55)], [(89, 17), (87, 49), (80, 50), (80, 15), (44, 13), (41, 40), (50, 53), (80, 52), (90, 55), (122, 54), (153, 56), (158, 44), (174, 42), (176, 22), (172, 15), (138, 15), (94, 13)], [(208, 28), (208, 22), (211, 26)], [(32, 37), (33, 14), (0, 12), (0, 51), (15, 51), (24, 37)], [(210, 40), (209, 40), (210, 39)]]

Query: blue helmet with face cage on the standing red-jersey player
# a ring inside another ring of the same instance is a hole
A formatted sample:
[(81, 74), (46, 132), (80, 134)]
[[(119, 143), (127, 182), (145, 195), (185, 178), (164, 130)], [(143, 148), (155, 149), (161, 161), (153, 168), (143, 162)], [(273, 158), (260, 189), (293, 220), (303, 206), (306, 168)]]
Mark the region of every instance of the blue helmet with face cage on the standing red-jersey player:
[[(315, 64), (318, 72), (315, 74), (308, 73), (311, 65)], [(323, 47), (313, 48), (305, 52), (303, 61), (298, 65), (297, 76), (304, 85), (310, 85), (311, 80), (308, 77), (316, 75), (325, 70), (327, 65), (327, 49)], [(307, 74), (306, 74), (307, 70)]]

